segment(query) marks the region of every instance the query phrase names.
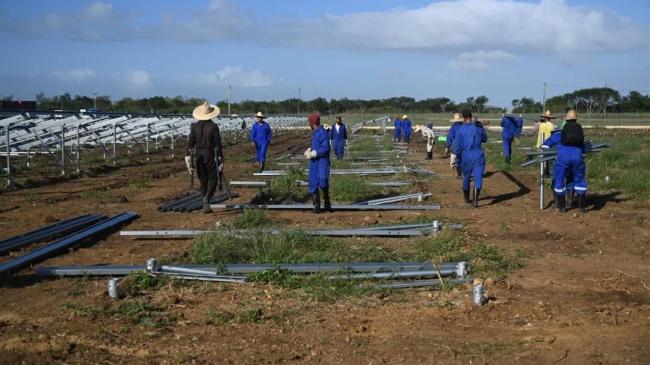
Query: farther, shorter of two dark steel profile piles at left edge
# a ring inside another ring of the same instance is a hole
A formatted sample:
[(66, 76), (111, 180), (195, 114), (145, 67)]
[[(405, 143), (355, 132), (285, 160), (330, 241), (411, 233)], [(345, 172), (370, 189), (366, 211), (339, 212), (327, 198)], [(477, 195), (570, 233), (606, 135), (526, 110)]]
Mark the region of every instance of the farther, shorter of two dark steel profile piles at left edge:
[(7, 252), (23, 248), (34, 243), (43, 242), (48, 239), (61, 237), (68, 233), (78, 231), (82, 228), (95, 224), (104, 218), (106, 218), (106, 216), (99, 214), (83, 214), (78, 217), (57, 222), (28, 233), (7, 238), (6, 240), (0, 241), (0, 255), (4, 255)]

